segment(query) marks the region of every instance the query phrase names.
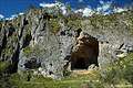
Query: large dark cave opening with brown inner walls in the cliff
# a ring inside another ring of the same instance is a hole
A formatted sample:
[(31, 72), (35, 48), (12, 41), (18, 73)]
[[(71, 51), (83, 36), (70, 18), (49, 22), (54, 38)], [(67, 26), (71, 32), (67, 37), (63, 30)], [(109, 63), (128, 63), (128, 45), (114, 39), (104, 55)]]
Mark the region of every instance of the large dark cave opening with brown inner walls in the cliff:
[(89, 34), (80, 34), (71, 54), (71, 69), (88, 69), (90, 65), (99, 66), (99, 41)]

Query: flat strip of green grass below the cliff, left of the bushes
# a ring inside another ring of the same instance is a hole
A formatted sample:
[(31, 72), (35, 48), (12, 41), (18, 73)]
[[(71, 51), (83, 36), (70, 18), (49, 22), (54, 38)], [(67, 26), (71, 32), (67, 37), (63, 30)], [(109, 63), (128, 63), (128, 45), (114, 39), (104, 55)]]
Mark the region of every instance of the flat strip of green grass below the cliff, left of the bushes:
[(81, 88), (83, 85), (91, 85), (91, 82), (95, 82), (94, 85), (100, 85), (96, 84), (95, 77), (93, 78), (89, 75), (63, 78), (61, 80), (35, 76), (31, 78), (30, 81), (27, 81), (27, 78), (23, 78), (16, 74), (11, 76), (10, 81), (12, 85), (17, 86), (17, 88)]

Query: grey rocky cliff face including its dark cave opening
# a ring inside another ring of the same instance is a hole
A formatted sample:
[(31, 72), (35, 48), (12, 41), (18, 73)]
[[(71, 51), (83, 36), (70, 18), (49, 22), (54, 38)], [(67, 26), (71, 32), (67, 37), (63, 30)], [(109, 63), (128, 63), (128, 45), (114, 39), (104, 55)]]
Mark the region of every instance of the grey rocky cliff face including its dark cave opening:
[(60, 78), (65, 70), (91, 64), (102, 68), (129, 52), (133, 52), (132, 11), (81, 18), (31, 9), (0, 22), (0, 63), (8, 63), (8, 73), (32, 70)]

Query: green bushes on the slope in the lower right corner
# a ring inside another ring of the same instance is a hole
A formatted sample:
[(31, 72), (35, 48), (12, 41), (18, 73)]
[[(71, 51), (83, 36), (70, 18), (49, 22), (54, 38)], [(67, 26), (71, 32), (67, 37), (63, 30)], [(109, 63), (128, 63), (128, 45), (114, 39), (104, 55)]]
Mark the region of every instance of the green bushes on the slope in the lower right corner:
[(124, 57), (113, 65), (109, 66), (104, 74), (102, 74), (102, 80), (109, 84), (133, 84), (133, 54)]

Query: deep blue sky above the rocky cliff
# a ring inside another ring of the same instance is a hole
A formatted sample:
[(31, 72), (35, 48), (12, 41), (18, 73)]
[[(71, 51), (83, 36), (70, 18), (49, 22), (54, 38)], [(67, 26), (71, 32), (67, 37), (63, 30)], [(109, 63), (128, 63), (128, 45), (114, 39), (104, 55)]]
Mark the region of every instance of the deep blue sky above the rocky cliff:
[[(12, 14), (17, 14), (20, 12), (24, 12), (29, 6), (33, 4), (39, 7), (39, 3), (52, 3), (55, 0), (0, 0), (0, 14), (6, 18), (11, 16)], [(73, 9), (79, 8), (96, 8), (100, 6), (100, 0), (60, 0), (65, 4), (71, 4)], [(104, 2), (115, 2), (119, 7), (130, 6), (133, 3), (133, 0), (102, 0)]]

